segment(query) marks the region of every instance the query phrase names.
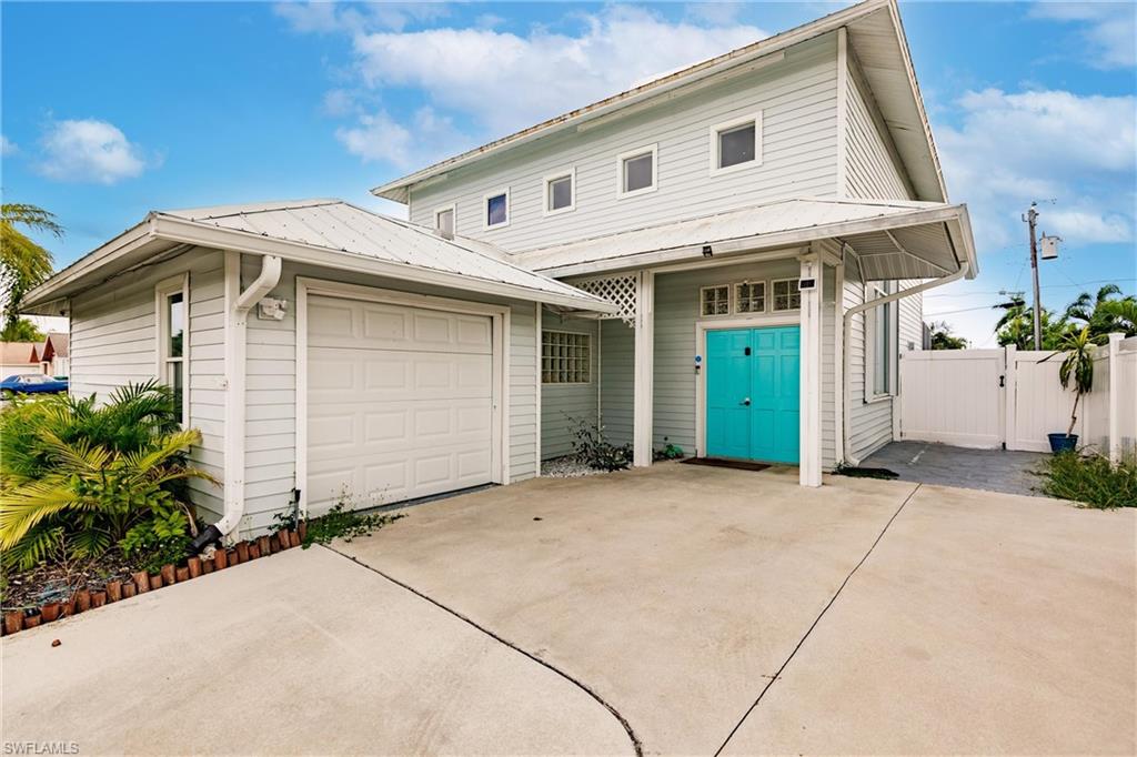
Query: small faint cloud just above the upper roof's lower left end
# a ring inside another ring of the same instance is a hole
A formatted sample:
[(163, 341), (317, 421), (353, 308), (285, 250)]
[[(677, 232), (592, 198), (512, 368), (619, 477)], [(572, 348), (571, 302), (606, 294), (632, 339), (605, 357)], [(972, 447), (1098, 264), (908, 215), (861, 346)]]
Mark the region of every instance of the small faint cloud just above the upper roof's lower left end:
[(390, 163), (398, 168), (432, 163), (465, 144), (449, 118), (432, 108), (420, 108), (404, 125), (380, 110), (359, 114), (356, 124), (335, 130), (335, 139), (364, 163)]

